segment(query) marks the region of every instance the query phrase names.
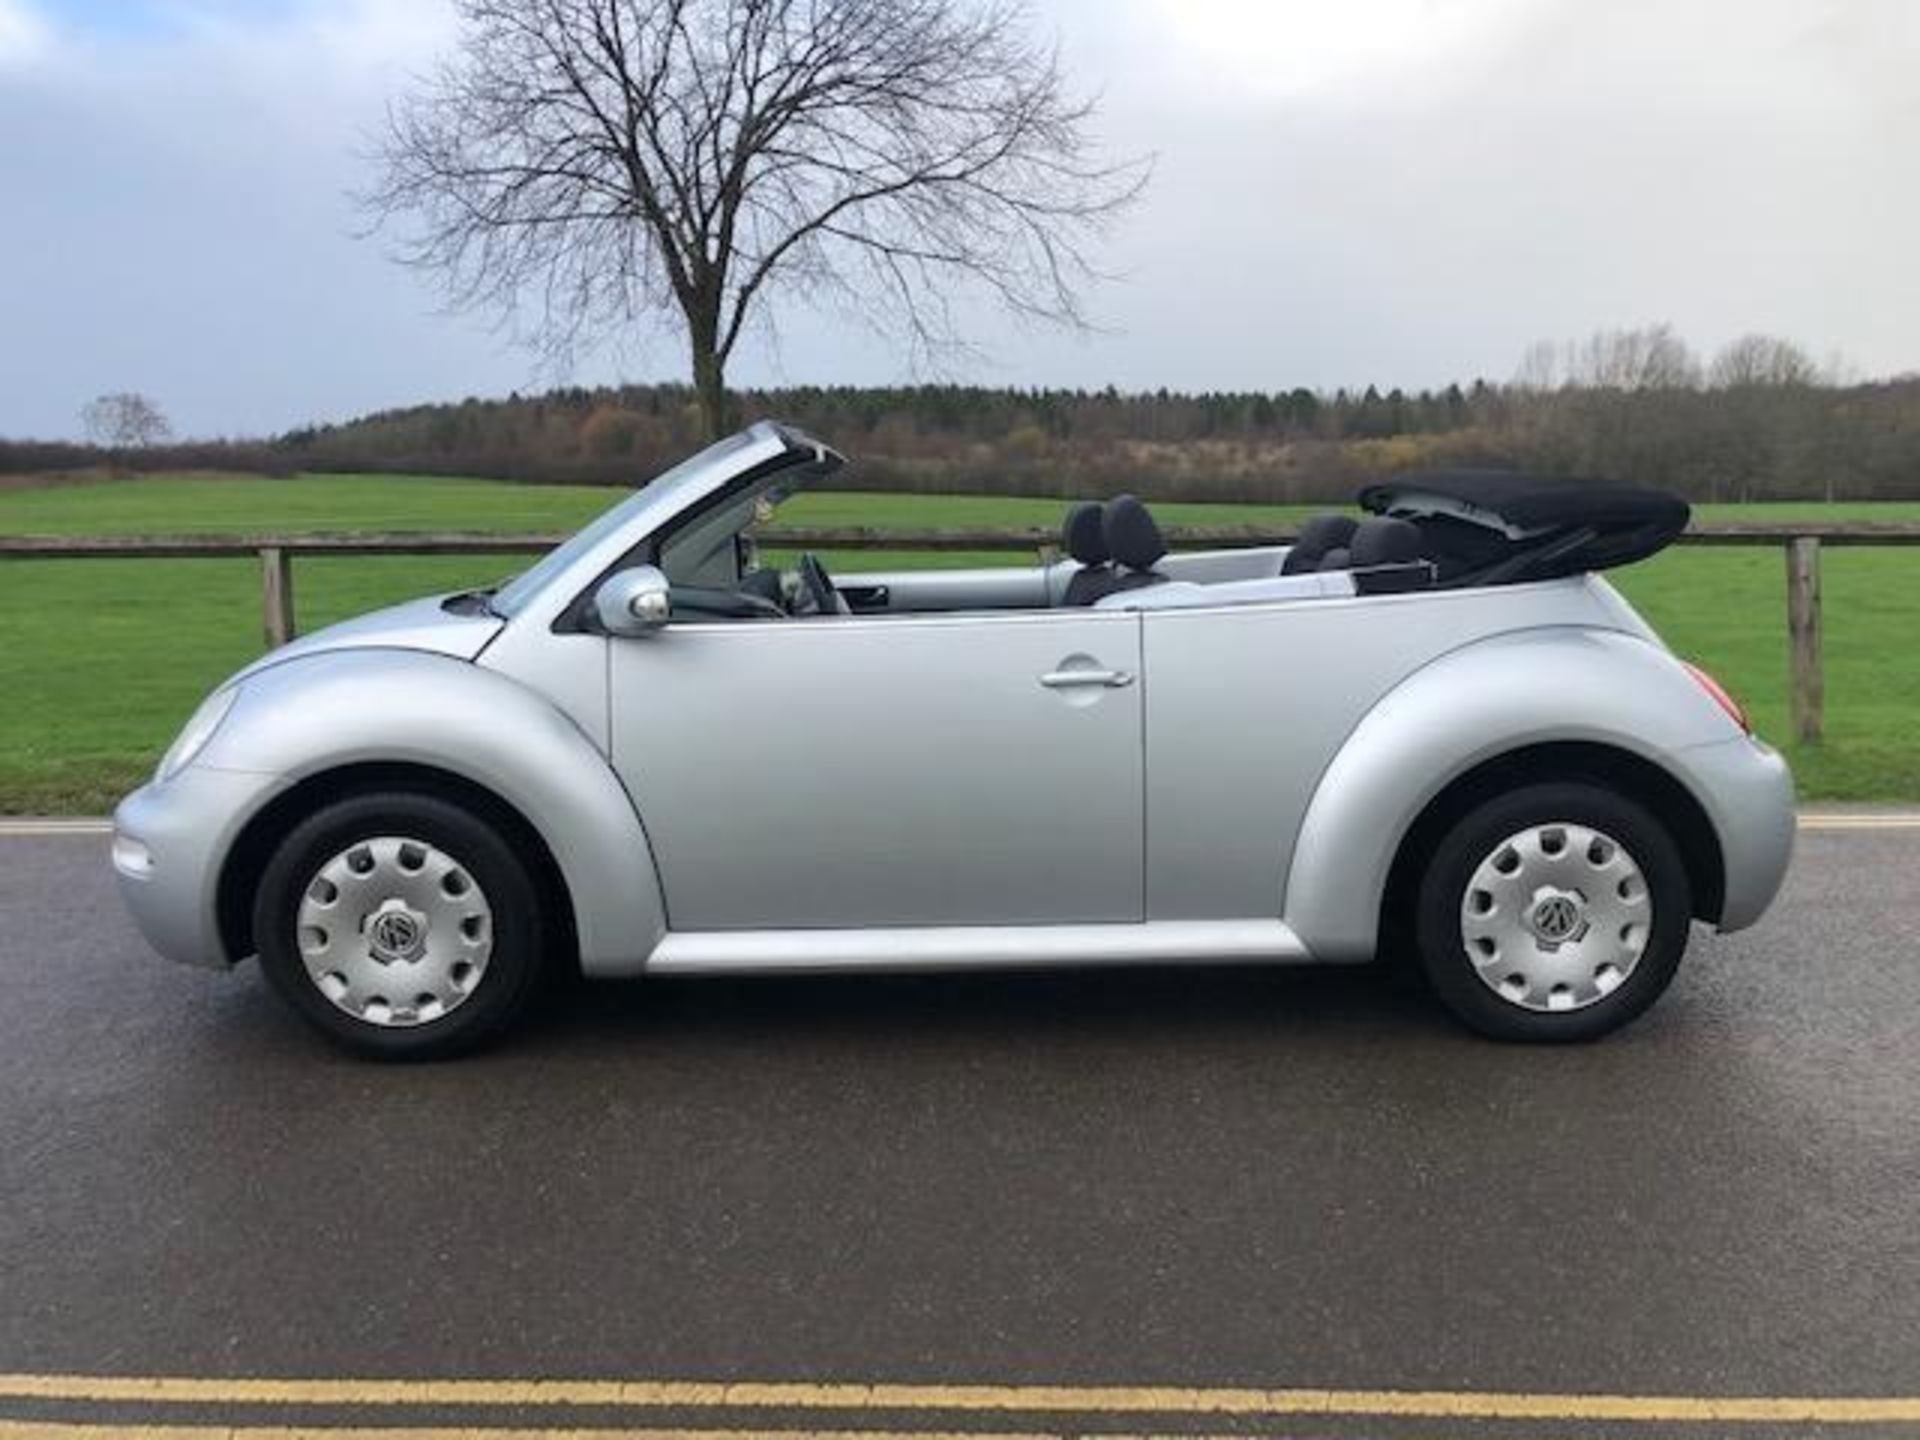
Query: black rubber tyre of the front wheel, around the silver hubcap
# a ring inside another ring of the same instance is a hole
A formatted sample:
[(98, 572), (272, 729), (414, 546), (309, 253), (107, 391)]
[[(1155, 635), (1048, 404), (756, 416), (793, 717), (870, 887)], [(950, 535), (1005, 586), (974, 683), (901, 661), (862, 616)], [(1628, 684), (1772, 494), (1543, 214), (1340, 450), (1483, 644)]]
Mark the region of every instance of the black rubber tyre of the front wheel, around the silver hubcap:
[[(445, 1014), (411, 1025), (348, 1014), (326, 998), (300, 954), (307, 887), (332, 856), (380, 835), (440, 849), (478, 883), (492, 910), (492, 950), (478, 983)], [(376, 1060), (438, 1060), (492, 1041), (532, 1004), (543, 937), (540, 887), (511, 841), (467, 808), (413, 791), (355, 795), (307, 816), (280, 841), (253, 897), (253, 941), (273, 989), (330, 1041)]]

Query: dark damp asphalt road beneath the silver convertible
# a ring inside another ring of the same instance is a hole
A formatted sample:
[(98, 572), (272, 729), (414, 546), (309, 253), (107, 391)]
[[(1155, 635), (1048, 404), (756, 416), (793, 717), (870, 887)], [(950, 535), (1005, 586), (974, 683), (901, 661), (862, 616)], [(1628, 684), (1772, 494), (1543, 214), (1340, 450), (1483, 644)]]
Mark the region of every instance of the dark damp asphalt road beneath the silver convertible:
[[(102, 837), (6, 837), (0, 1434), (152, 1417), (21, 1382), (61, 1375), (1920, 1396), (1916, 922), (1920, 829), (1807, 833), (1761, 927), (1584, 1048), (1229, 970), (580, 987), (382, 1068), (154, 958)], [(561, 1419), (634, 1421), (593, 1394)], [(336, 1400), (301, 1413), (374, 1413)], [(551, 1419), (495, 1400), (461, 1415)], [(1569, 1428), (952, 1409), (881, 1419)]]

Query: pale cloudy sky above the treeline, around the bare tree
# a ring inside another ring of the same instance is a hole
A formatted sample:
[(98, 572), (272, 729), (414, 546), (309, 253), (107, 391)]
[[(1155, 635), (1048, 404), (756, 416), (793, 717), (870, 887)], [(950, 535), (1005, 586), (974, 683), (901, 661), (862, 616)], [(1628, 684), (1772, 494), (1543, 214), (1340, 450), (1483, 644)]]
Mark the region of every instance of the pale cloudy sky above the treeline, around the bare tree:
[[(1920, 369), (1920, 0), (1035, 0), (1146, 202), (1102, 332), (981, 323), (954, 378), (1507, 378), (1670, 321)], [(0, 434), (104, 390), (188, 434), (551, 376), (447, 317), (348, 192), (442, 0), (0, 0)], [(682, 378), (670, 336), (572, 378)], [(914, 378), (806, 311), (737, 384)]]

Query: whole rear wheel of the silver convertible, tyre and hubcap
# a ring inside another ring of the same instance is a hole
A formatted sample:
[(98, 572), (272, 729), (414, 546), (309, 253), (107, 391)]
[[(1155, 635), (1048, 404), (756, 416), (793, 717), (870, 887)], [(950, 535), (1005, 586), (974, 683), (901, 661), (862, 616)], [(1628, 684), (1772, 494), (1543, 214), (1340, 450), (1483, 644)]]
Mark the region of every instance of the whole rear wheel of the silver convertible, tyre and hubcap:
[(1653, 1004), (1693, 904), (1667, 828), (1588, 783), (1500, 795), (1434, 849), (1419, 954), (1440, 1000), (1503, 1041), (1588, 1041)]

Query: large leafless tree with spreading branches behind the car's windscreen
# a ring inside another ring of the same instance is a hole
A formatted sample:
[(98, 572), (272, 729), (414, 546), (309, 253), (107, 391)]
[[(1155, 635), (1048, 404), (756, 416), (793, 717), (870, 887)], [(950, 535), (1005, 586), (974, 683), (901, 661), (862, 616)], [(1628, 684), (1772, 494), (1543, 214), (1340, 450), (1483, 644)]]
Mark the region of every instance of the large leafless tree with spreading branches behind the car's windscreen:
[(455, 0), (457, 52), (397, 104), (365, 196), (401, 257), (564, 363), (643, 315), (687, 338), (712, 434), (778, 294), (924, 359), (950, 292), (1085, 324), (1089, 246), (1146, 179), (1021, 0)]

